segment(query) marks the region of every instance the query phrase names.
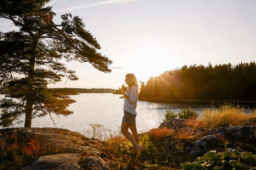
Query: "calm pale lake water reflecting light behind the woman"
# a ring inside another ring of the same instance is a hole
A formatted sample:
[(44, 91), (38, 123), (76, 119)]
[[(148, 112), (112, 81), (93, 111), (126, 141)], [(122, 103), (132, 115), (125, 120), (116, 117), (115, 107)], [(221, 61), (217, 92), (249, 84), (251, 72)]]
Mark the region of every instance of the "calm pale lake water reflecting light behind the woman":
[[(3, 97), (3, 96), (1, 96)], [(104, 125), (105, 129), (110, 131), (119, 131), (123, 117), (124, 99), (120, 95), (113, 94), (80, 94), (71, 96), (76, 103), (71, 104), (68, 110), (74, 111), (74, 114), (67, 117), (56, 116), (52, 118), (58, 128), (69, 129), (71, 131), (86, 134), (91, 131), (90, 124)], [(136, 109), (136, 125), (138, 132), (146, 132), (152, 128), (158, 127), (163, 122), (166, 110), (172, 109), (175, 113), (187, 108), (185, 105), (151, 103), (147, 101), (138, 101)], [(204, 108), (192, 108), (202, 113)], [(24, 117), (21, 118), (24, 120)], [(13, 127), (23, 127), (24, 124), (16, 124)], [(55, 127), (49, 115), (32, 120), (32, 127)]]

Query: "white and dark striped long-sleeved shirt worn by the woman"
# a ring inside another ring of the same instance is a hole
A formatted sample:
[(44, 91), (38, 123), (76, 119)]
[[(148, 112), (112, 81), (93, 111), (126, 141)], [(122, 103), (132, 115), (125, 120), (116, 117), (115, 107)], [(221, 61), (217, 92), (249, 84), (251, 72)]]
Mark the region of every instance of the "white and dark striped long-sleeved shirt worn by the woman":
[(124, 97), (124, 110), (137, 115), (138, 89), (132, 85), (131, 89), (126, 92), (126, 95), (129, 96), (129, 100)]

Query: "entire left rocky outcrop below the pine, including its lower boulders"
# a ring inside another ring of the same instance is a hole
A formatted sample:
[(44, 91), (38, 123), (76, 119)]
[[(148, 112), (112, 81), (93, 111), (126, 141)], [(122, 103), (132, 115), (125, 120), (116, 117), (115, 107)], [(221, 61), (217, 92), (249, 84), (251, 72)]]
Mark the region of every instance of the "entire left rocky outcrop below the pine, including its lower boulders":
[[(36, 138), (47, 146), (58, 151), (52, 155), (36, 157), (23, 167), (29, 169), (109, 169), (103, 159), (100, 159), (99, 145), (101, 141), (90, 139), (78, 132), (56, 128), (6, 128), (0, 129), (0, 138), (16, 133), (17, 136)], [(82, 157), (83, 155), (83, 157)], [(84, 158), (84, 155), (86, 157)], [(90, 155), (93, 155), (91, 157)], [(0, 166), (8, 166), (8, 155), (1, 153)]]

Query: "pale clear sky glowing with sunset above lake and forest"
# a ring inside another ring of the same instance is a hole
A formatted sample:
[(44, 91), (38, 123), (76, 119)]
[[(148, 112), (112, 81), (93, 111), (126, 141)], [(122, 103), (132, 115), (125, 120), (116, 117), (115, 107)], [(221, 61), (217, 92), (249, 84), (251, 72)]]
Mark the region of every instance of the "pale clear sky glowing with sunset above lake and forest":
[[(67, 63), (78, 81), (49, 87), (117, 89), (125, 74), (147, 82), (166, 70), (184, 65), (238, 64), (256, 61), (255, 0), (53, 0), (60, 15), (83, 18), (86, 29), (113, 60), (111, 73), (88, 63)], [(0, 30), (13, 29), (0, 20)]]

